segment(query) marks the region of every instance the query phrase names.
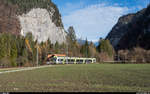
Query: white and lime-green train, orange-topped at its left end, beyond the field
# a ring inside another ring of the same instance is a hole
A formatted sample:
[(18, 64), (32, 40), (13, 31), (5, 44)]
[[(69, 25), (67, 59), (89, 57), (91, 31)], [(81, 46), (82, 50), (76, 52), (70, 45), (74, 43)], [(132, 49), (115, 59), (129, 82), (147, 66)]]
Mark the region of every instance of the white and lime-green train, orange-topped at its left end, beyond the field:
[(96, 63), (96, 58), (67, 57), (64, 54), (48, 55), (47, 64), (91, 64)]

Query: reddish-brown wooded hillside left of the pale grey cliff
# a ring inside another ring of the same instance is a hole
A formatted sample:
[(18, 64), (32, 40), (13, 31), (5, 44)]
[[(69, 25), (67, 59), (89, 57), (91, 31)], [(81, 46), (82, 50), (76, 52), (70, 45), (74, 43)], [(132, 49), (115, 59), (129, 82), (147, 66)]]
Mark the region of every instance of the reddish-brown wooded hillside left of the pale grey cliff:
[(4, 1), (0, 0), (0, 33), (19, 34), (21, 28), (16, 16), (17, 6), (4, 3)]

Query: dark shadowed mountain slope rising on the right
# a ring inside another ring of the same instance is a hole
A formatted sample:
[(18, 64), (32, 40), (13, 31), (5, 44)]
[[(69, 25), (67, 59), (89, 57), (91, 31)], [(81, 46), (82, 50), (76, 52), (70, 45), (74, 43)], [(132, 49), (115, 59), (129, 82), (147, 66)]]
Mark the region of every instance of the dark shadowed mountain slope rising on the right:
[(150, 49), (150, 5), (137, 13), (120, 17), (106, 39), (116, 50), (136, 46)]

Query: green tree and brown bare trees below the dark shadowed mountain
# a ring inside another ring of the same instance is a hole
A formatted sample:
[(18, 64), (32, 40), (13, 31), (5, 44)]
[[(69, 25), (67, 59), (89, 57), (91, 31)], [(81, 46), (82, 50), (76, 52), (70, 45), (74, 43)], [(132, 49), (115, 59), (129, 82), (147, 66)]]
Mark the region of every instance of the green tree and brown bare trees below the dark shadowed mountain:
[(99, 52), (97, 60), (102, 63), (150, 63), (150, 50), (140, 46), (114, 50), (109, 40), (100, 39), (97, 50)]

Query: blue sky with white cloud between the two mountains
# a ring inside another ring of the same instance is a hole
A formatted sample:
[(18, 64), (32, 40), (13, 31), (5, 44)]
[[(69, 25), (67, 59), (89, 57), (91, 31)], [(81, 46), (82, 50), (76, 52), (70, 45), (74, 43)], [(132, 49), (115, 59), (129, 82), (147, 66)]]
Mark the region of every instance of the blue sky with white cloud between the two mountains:
[(105, 38), (118, 19), (146, 8), (150, 0), (52, 0), (65, 30), (73, 26), (78, 39), (96, 42)]

